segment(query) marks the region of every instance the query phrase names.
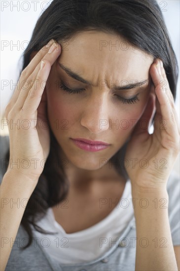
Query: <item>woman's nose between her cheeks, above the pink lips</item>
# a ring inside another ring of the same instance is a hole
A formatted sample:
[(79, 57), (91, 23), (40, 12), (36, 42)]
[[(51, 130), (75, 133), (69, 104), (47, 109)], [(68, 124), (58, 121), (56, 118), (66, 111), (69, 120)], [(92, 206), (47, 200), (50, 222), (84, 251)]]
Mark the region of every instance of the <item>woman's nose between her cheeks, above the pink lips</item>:
[(84, 103), (80, 123), (91, 133), (99, 134), (108, 130), (109, 106), (106, 95), (88, 97)]

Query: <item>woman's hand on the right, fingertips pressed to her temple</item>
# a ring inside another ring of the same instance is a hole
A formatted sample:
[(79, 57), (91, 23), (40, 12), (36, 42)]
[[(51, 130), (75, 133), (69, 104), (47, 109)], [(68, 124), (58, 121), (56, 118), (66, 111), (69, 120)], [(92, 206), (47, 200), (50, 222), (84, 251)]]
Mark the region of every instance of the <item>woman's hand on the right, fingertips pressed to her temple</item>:
[[(153, 89), (150, 90), (152, 94), (128, 142), (125, 159), (128, 160), (129, 166), (126, 167), (126, 171), (132, 188), (136, 187), (144, 192), (157, 192), (166, 189), (169, 175), (179, 154), (180, 125), (174, 98), (160, 59), (151, 65), (149, 73), (154, 83)], [(149, 134), (148, 126), (155, 107), (154, 132)], [(145, 129), (144, 122), (148, 123)]]

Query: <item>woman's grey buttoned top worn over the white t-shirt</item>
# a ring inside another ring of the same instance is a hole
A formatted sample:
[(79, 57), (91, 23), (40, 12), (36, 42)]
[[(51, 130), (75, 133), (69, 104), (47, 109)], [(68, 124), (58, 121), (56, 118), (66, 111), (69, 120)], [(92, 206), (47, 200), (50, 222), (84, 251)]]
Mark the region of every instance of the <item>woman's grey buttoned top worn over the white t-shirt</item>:
[[(3, 157), (8, 148), (8, 137), (0, 137), (2, 180), (4, 167)], [(173, 245), (180, 245), (180, 176), (172, 171), (168, 183), (169, 195), (168, 214)], [(162, 202), (163, 204), (163, 202)], [(45, 236), (45, 235), (44, 235)], [(136, 259), (136, 223), (134, 215), (127, 222), (126, 227), (117, 236), (116, 242), (111, 242), (103, 255), (85, 263), (62, 264), (54, 259), (44, 248), (44, 243), (38, 237), (33, 238), (30, 247), (21, 250), (27, 244), (28, 234), (20, 225), (15, 242), (5, 268), (5, 271), (133, 271)], [(54, 239), (56, 236), (54, 236)], [(92, 237), (93, 238), (93, 237)], [(42, 245), (43, 244), (43, 245)]]

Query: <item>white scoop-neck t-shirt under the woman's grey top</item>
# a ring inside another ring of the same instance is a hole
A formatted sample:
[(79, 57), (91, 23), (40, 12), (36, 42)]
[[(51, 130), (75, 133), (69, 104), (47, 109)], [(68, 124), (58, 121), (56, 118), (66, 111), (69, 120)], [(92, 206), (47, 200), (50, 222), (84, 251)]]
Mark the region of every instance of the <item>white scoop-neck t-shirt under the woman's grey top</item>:
[(36, 224), (55, 235), (41, 234), (32, 227), (35, 237), (53, 259), (61, 264), (85, 263), (109, 250), (134, 216), (131, 182), (128, 179), (118, 204), (103, 220), (88, 229), (67, 234), (56, 222), (52, 208)]

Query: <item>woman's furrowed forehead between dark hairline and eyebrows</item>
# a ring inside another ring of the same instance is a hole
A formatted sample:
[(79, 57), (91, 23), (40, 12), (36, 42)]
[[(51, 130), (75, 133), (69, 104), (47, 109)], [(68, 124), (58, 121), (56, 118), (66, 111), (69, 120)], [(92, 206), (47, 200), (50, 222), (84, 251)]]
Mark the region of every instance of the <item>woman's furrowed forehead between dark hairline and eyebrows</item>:
[(151, 55), (111, 33), (80, 32), (62, 43), (62, 48), (60, 62), (84, 78), (91, 77), (94, 82), (100, 79), (144, 80), (153, 62)]

